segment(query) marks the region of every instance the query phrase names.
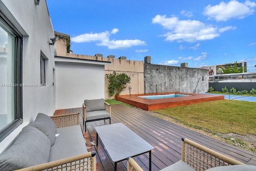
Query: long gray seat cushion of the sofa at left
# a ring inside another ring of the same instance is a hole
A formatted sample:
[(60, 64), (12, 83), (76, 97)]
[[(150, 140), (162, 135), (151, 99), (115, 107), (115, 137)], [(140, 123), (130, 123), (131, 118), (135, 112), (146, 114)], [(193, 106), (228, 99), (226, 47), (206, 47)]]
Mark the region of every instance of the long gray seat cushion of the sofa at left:
[(49, 162), (88, 152), (80, 125), (57, 128), (56, 133), (60, 135), (51, 147)]

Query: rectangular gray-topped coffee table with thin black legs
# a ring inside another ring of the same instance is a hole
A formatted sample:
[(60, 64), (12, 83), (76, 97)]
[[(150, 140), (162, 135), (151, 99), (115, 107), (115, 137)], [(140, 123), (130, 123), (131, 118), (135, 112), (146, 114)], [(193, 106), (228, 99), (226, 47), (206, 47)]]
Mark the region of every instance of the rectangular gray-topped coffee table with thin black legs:
[(115, 163), (115, 171), (117, 170), (117, 162), (144, 153), (149, 153), (149, 170), (151, 171), (151, 150), (154, 147), (123, 123), (98, 126), (95, 129), (97, 131), (96, 146), (98, 147), (98, 136), (100, 136), (110, 158)]

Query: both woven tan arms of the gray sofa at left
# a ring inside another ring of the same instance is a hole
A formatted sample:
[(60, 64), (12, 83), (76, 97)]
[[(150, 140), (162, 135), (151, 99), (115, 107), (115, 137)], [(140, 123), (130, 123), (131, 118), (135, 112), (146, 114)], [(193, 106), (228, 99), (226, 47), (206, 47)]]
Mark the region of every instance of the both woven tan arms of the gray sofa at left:
[[(70, 113), (63, 115), (50, 116), (54, 121), (56, 128), (80, 125), (79, 113)], [(32, 167), (18, 169), (16, 171), (95, 171), (96, 170), (96, 152), (87, 152), (80, 155), (52, 161)]]

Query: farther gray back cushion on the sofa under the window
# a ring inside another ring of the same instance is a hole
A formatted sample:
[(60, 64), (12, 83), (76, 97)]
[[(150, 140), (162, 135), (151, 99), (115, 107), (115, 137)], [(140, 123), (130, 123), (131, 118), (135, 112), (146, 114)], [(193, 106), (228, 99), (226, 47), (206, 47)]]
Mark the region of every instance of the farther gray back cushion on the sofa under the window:
[(30, 124), (42, 131), (51, 141), (51, 145), (55, 142), (56, 125), (54, 121), (44, 113), (38, 113), (36, 119)]

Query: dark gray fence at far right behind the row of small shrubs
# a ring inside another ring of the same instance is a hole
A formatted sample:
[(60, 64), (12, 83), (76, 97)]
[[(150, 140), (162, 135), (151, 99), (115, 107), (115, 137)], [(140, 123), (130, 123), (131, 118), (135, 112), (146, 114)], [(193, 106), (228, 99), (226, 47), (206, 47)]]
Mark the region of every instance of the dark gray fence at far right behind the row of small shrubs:
[(234, 87), (236, 89), (236, 91), (242, 91), (242, 90), (247, 90), (248, 92), (250, 92), (252, 90), (252, 88), (256, 89), (256, 82), (243, 82), (243, 83), (230, 83), (230, 82), (226, 82), (226, 83), (220, 83), (220, 82), (212, 82), (209, 83), (209, 87), (214, 87), (214, 91), (222, 91), (221, 89), (224, 88), (225, 86), (228, 89), (231, 89), (232, 87)]

